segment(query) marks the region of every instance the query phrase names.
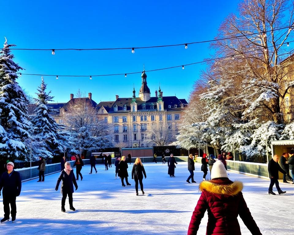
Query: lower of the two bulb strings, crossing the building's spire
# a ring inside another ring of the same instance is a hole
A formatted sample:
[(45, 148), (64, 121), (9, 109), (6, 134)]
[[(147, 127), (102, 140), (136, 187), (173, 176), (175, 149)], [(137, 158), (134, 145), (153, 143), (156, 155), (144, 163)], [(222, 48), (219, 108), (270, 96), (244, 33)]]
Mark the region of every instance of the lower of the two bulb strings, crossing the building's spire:
[[(289, 41), (288, 43), (292, 43), (293, 41)], [(288, 44), (287, 42), (283, 43), (283, 45)], [(183, 45), (183, 44), (182, 44)], [(273, 46), (269, 46), (269, 47), (273, 47)], [(269, 48), (267, 47), (267, 48)], [(247, 54), (247, 53), (252, 53), (252, 52), (256, 52), (256, 51), (260, 51), (262, 49), (264, 49), (265, 51), (267, 51), (267, 48), (259, 48), (259, 49), (254, 49), (254, 50), (250, 50), (250, 51), (246, 51), (246, 52), (242, 52), (242, 53), (238, 53), (238, 54), (234, 54), (233, 56), (237, 56), (237, 55), (243, 55), (243, 54)], [(160, 71), (160, 70), (166, 70), (166, 69), (173, 69), (173, 68), (179, 68), (182, 67), (182, 69), (185, 69), (184, 66), (188, 66), (188, 65), (196, 65), (196, 64), (200, 64), (200, 63), (204, 63), (204, 62), (210, 62), (210, 61), (215, 61), (215, 60), (220, 60), (220, 59), (228, 59), (231, 58), (232, 59), (232, 55), (228, 55), (228, 56), (223, 56), (223, 57), (217, 57), (217, 58), (211, 58), (208, 60), (203, 60), (203, 61), (199, 61), (199, 62), (194, 62), (194, 63), (190, 63), (190, 64), (185, 64), (185, 65), (177, 65), (177, 66), (171, 66), (171, 67), (167, 67), (167, 68), (160, 68), (160, 69), (152, 69), (152, 70), (146, 70), (145, 72), (154, 72), (154, 71)], [(116, 75), (127, 75), (127, 74), (138, 74), (138, 73), (142, 73), (142, 71), (140, 72), (133, 72), (133, 73), (115, 73), (115, 74), (100, 74), (100, 75), (92, 75), (93, 77), (98, 77), (98, 76), (116, 76)], [(20, 74), (20, 73), (19, 73)], [(32, 73), (22, 73), (22, 75), (32, 75), (32, 76), (56, 76), (56, 75), (52, 75), (52, 74), (32, 74)], [(89, 77), (88, 75), (59, 75), (62, 77)], [(90, 77), (92, 77), (90, 76)]]

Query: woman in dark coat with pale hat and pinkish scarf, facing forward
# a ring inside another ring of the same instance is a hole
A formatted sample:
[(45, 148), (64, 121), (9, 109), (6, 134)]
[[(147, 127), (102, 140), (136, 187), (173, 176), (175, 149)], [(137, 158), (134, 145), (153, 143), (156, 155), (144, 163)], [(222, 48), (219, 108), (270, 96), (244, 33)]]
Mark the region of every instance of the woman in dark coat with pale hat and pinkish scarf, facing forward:
[[(73, 192), (74, 192), (74, 186), (77, 190), (77, 181), (74, 177), (74, 170), (70, 166), (70, 162), (66, 162), (64, 164), (65, 168), (60, 173), (60, 176), (58, 177), (55, 190), (58, 190), (58, 186), (60, 181), (61, 183), (61, 193), (62, 193), (62, 200), (61, 200), (61, 211), (65, 212), (65, 200), (68, 196), (68, 201), (70, 203), (70, 210), (75, 211), (76, 209), (73, 207)], [(74, 185), (73, 185), (74, 184)]]

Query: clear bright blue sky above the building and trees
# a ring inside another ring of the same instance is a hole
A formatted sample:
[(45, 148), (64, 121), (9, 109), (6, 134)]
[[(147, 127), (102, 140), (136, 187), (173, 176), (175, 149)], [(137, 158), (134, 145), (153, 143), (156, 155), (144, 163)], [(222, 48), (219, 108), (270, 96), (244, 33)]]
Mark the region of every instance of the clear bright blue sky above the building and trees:
[[(235, 13), (239, 0), (230, 1), (12, 1), (3, 8), (0, 36), (16, 48), (113, 48), (170, 45), (211, 40), (224, 18)], [(3, 4), (2, 4), (3, 5)], [(132, 73), (203, 61), (209, 43), (184, 46), (103, 51), (12, 50), (22, 73), (98, 75)], [(151, 96), (189, 98), (205, 64), (147, 74)], [(97, 103), (136, 96), (141, 74), (85, 78), (44, 76), (55, 102), (67, 102), (70, 93), (92, 92)], [(40, 76), (23, 75), (19, 84), (35, 96)]]

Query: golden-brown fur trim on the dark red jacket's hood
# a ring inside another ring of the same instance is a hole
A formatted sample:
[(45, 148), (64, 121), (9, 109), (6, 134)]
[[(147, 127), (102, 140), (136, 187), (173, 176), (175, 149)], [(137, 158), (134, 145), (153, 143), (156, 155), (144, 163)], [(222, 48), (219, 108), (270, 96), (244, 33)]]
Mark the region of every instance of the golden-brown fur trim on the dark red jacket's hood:
[(200, 191), (221, 194), (226, 196), (235, 196), (243, 189), (243, 184), (240, 181), (234, 181), (231, 184), (216, 184), (210, 181), (202, 181), (199, 185)]

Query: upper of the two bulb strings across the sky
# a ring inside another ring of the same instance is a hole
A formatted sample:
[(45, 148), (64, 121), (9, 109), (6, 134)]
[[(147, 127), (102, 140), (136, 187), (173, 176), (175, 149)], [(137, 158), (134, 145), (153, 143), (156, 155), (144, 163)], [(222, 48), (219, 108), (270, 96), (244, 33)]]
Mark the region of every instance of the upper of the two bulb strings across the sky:
[[(289, 31), (292, 30), (291, 27), (294, 27), (294, 25), (290, 25), (287, 27), (281, 27), (281, 28), (275, 28), (272, 30), (268, 30), (268, 31), (263, 31), (262, 32), (262, 36), (266, 37), (266, 33), (267, 32), (274, 32), (276, 30), (281, 30), (281, 29), (288, 29)], [(258, 33), (250, 33), (250, 34), (242, 34), (242, 35), (238, 35), (238, 36), (232, 36), (232, 37), (227, 37), (227, 38), (220, 38), (220, 39), (213, 39), (213, 40), (205, 40), (205, 41), (199, 41), (199, 42), (192, 42), (192, 43), (181, 43), (181, 44), (172, 44), (172, 45), (160, 45), (160, 46), (150, 46), (150, 47), (118, 47), (118, 48), (91, 48), (91, 49), (82, 49), (82, 48), (64, 48), (64, 49), (29, 49), (29, 48), (10, 48), (10, 50), (52, 50), (52, 54), (53, 52), (55, 52), (55, 50), (122, 50), (122, 49), (132, 49), (132, 53), (135, 52), (135, 48), (136, 49), (145, 49), (145, 48), (156, 48), (156, 47), (175, 47), (175, 46), (183, 46), (185, 45), (186, 48), (186, 44), (188, 46), (188, 44), (196, 44), (196, 43), (210, 43), (210, 42), (216, 42), (216, 41), (221, 41), (221, 40), (228, 40), (228, 39), (238, 39), (238, 38), (243, 38), (246, 36), (251, 36), (251, 35), (260, 35), (260, 32)]]

